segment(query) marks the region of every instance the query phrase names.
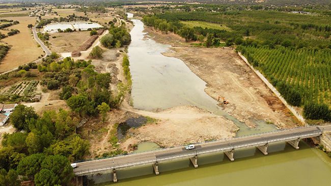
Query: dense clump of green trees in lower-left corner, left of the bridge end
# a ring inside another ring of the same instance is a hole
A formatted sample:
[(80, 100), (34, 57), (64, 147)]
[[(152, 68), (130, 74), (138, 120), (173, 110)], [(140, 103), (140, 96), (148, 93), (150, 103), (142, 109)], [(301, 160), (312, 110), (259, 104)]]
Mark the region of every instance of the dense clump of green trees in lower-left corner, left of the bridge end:
[(32, 107), (18, 105), (11, 120), (24, 132), (4, 136), (0, 149), (0, 177), (5, 177), (2, 181), (11, 181), (8, 175), (19, 181), (18, 173), (36, 185), (68, 185), (74, 176), (70, 161), (80, 160), (89, 150), (89, 142), (75, 134), (76, 116), (59, 109), (45, 111), (39, 117)]

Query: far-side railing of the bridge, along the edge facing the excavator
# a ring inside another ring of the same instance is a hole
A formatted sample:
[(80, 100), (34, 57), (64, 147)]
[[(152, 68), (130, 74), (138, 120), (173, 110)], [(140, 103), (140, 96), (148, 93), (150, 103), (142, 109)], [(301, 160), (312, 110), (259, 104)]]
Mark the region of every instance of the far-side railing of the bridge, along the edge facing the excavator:
[[(231, 139), (240, 139), (240, 138), (247, 138), (247, 137), (251, 137), (251, 136), (257, 136), (257, 135), (263, 135), (263, 134), (270, 134), (270, 133), (276, 133), (276, 132), (282, 132), (282, 131), (291, 131), (294, 129), (302, 129), (302, 128), (316, 128), (316, 127), (322, 127), (322, 126), (327, 126), (326, 125), (311, 125), (311, 126), (299, 126), (299, 127), (295, 127), (295, 128), (291, 128), (291, 129), (280, 129), (280, 130), (274, 130), (274, 131), (267, 131), (267, 132), (261, 132), (261, 133), (255, 133), (255, 134), (247, 134), (244, 136), (237, 136), (237, 137), (230, 137), (230, 138), (223, 138), (223, 139), (219, 139), (219, 140), (209, 140), (209, 141), (204, 141), (204, 142), (199, 142), (199, 143), (192, 143), (195, 145), (199, 145), (199, 144), (205, 144), (205, 143), (216, 143), (216, 142), (222, 142), (222, 141), (229, 141)], [(290, 138), (288, 138), (290, 139)], [(270, 141), (271, 142), (271, 141)], [(182, 146), (177, 146), (177, 147), (163, 147), (161, 149), (151, 149), (151, 150), (145, 150), (139, 153), (148, 153), (148, 152), (153, 152), (153, 151), (159, 151), (159, 150), (166, 150), (166, 149), (171, 149), (171, 148), (178, 148), (178, 147), (182, 147)], [(133, 153), (130, 153), (130, 155)], [(75, 163), (80, 163), (80, 162), (88, 162), (88, 161), (94, 161), (94, 160), (102, 160), (102, 159), (109, 159), (109, 158), (117, 158), (117, 157), (123, 157), (123, 156), (127, 156), (129, 154), (119, 154), (116, 156), (107, 156), (107, 157), (101, 157), (101, 158), (96, 158), (96, 159), (90, 159), (90, 160), (81, 160), (81, 161), (77, 161)]]

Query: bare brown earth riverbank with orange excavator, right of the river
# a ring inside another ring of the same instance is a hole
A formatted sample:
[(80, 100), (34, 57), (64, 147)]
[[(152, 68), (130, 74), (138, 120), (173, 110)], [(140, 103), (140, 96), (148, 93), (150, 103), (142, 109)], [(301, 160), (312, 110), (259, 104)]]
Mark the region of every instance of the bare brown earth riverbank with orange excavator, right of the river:
[(256, 127), (253, 120), (264, 120), (281, 129), (298, 125), (286, 106), (232, 48), (193, 47), (184, 41), (174, 42), (178, 41), (177, 35), (162, 34), (148, 27), (145, 30), (153, 40), (171, 44), (173, 47), (163, 55), (183, 60), (193, 73), (207, 82), (205, 92), (215, 100), (221, 96), (229, 101), (230, 104), (219, 103), (219, 106), (246, 126)]

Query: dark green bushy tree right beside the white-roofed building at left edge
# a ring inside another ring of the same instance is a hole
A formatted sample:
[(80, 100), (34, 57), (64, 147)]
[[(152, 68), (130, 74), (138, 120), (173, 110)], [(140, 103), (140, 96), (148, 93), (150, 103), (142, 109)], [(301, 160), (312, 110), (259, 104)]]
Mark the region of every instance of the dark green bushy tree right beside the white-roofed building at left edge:
[(13, 126), (18, 130), (24, 129), (29, 131), (27, 121), (31, 118), (38, 118), (35, 109), (21, 104), (17, 105), (14, 112), (10, 115), (10, 120), (13, 123)]

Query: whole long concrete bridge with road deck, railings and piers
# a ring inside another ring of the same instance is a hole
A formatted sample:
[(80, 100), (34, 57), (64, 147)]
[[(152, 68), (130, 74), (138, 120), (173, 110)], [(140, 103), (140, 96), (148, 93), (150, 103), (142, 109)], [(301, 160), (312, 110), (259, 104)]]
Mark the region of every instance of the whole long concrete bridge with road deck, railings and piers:
[(158, 163), (187, 158), (190, 159), (194, 167), (197, 168), (199, 156), (224, 152), (230, 161), (234, 161), (233, 153), (237, 149), (256, 147), (264, 155), (267, 155), (268, 145), (279, 142), (287, 142), (295, 149), (299, 149), (298, 145), (300, 139), (320, 136), (323, 132), (327, 131), (331, 131), (331, 124), (300, 127), (252, 136), (206, 142), (197, 144), (194, 150), (186, 150), (185, 147), (175, 147), (101, 160), (92, 160), (77, 163), (77, 168), (74, 169), (74, 173), (78, 179), (78, 177), (81, 178), (81, 176), (112, 172), (113, 181), (117, 182), (116, 171), (121, 169), (152, 165), (155, 174), (158, 175)]

